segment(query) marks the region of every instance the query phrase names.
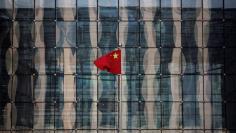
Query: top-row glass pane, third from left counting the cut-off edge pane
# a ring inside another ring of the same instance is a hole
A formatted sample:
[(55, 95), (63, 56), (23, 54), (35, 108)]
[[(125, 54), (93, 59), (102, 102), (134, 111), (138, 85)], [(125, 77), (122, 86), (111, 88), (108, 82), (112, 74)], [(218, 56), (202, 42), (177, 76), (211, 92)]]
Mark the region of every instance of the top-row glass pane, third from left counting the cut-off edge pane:
[(55, 19), (55, 0), (36, 0), (35, 19)]

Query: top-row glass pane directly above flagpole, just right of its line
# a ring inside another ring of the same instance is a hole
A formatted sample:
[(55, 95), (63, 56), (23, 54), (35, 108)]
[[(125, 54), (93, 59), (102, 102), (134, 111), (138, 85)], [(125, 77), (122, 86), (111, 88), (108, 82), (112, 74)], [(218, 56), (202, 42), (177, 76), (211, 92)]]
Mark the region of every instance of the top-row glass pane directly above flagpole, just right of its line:
[(121, 20), (139, 19), (139, 1), (138, 0), (120, 0), (120, 18)]

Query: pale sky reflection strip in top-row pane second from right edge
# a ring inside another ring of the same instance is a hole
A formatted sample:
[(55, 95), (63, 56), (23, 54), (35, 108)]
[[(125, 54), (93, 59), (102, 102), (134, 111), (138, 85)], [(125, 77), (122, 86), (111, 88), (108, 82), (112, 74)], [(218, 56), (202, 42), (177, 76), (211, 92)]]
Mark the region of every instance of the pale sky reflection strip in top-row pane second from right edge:
[(223, 1), (222, 0), (204, 0), (203, 8), (222, 8)]

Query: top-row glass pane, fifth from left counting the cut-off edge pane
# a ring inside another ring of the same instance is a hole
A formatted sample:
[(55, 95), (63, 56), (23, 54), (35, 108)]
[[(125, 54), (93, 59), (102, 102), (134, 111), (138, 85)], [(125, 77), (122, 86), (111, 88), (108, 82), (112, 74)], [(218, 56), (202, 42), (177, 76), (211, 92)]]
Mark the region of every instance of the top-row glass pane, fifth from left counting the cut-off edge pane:
[(97, 0), (77, 0), (78, 19), (97, 19)]

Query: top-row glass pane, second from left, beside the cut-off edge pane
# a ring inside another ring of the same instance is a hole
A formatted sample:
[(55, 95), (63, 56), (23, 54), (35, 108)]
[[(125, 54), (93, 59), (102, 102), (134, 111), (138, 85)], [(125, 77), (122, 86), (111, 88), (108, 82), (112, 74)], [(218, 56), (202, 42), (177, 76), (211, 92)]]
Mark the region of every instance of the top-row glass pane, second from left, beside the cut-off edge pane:
[(33, 0), (15, 0), (16, 19), (34, 19), (34, 1)]

